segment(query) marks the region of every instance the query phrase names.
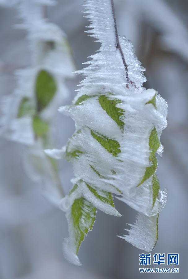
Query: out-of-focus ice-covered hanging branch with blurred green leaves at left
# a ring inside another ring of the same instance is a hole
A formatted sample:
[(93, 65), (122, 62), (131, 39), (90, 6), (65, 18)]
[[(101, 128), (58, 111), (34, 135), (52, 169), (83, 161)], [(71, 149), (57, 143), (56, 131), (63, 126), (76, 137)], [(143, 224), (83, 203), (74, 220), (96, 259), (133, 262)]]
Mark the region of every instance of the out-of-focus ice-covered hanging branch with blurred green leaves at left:
[(17, 88), (1, 101), (1, 135), (26, 146), (24, 164), (32, 178), (40, 181), (43, 194), (59, 205), (63, 197), (56, 161), (43, 149), (50, 146), (51, 122), (68, 94), (65, 79), (74, 65), (66, 35), (46, 18), (51, 0), (20, 0), (16, 4), (30, 47), (31, 65), (17, 70)]

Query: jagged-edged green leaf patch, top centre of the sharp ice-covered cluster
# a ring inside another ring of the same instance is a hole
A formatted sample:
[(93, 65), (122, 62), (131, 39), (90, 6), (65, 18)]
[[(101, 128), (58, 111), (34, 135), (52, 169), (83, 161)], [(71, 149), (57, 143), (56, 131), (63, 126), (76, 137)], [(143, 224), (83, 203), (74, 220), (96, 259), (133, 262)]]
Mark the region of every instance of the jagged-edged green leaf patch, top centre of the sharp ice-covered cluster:
[(121, 103), (118, 99), (108, 99), (107, 95), (100, 95), (98, 101), (102, 106), (103, 110), (117, 123), (120, 129), (123, 129), (124, 122), (120, 120), (120, 116), (124, 115), (124, 110), (116, 107), (117, 104)]

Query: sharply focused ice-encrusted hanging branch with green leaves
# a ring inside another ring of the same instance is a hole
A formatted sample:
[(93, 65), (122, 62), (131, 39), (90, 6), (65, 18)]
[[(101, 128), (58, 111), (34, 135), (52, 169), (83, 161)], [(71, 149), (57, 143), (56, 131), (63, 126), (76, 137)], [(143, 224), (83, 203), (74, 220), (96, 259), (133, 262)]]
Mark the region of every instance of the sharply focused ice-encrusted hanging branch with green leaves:
[[(129, 235), (120, 236), (151, 251), (158, 238), (158, 217), (166, 202), (156, 177), (163, 146), (167, 103), (146, 81), (132, 44), (118, 36), (112, 0), (87, 0), (89, 36), (101, 43), (90, 64), (78, 73), (86, 76), (71, 106), (59, 110), (75, 121), (76, 131), (62, 150), (46, 151), (72, 162), (73, 188), (61, 202), (68, 219), (65, 257), (80, 265), (77, 253), (92, 229), (97, 209), (120, 216), (113, 194), (138, 211)], [(122, 214), (126, 214), (122, 212)]]

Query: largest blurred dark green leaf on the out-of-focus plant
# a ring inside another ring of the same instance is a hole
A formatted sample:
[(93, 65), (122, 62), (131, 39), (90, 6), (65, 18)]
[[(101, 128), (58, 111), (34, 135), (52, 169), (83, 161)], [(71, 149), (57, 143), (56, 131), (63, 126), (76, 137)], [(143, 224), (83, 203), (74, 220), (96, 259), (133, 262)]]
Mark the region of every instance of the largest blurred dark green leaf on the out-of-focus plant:
[(36, 78), (35, 95), (37, 100), (37, 111), (41, 111), (49, 105), (57, 91), (53, 76), (45, 70), (41, 70)]

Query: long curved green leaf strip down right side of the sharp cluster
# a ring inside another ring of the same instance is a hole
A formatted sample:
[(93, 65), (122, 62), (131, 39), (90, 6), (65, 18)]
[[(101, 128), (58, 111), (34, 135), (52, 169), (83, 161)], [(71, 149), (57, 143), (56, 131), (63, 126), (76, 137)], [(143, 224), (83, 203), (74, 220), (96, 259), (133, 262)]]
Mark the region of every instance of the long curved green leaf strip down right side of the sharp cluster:
[(142, 178), (142, 181), (138, 184), (141, 185), (146, 179), (148, 179), (151, 175), (153, 175), (157, 169), (157, 158), (155, 156), (155, 152), (160, 146), (160, 141), (158, 138), (157, 130), (154, 127), (150, 133), (149, 137), (149, 147), (150, 147), (150, 156), (149, 160), (152, 162), (152, 166), (146, 167), (146, 171), (144, 174), (144, 177)]

